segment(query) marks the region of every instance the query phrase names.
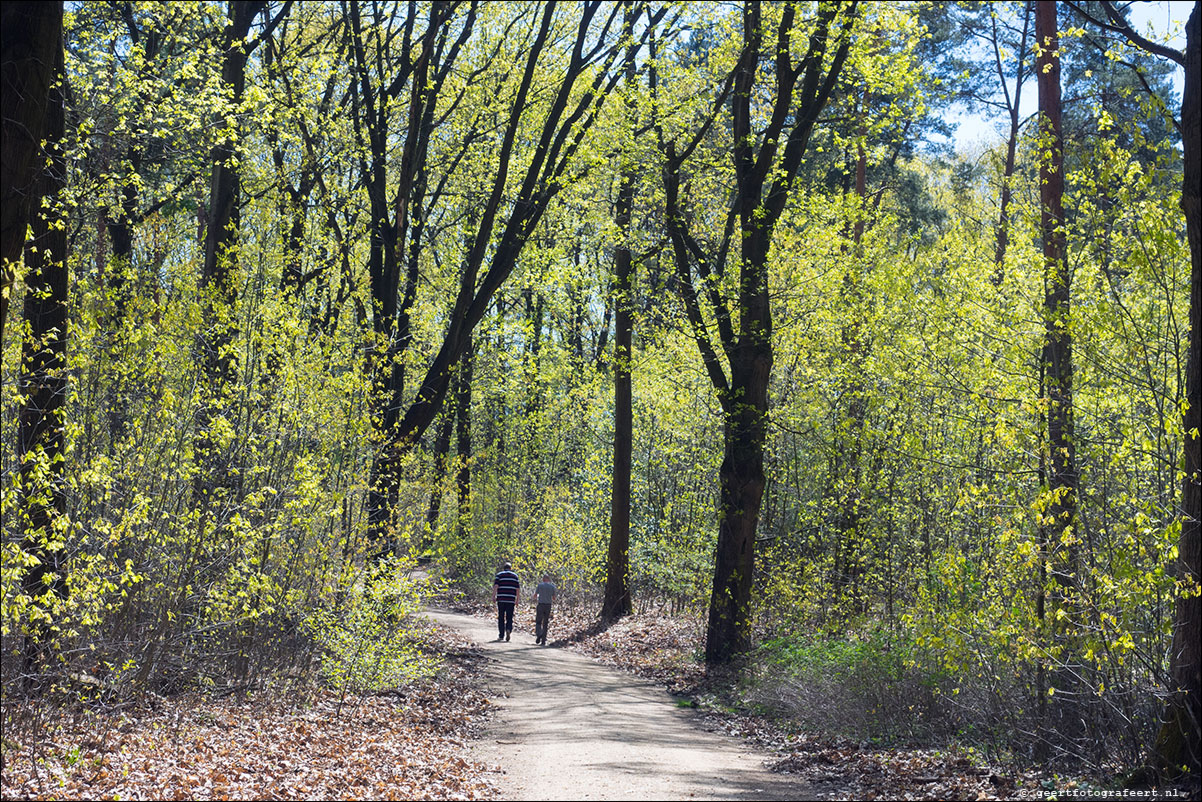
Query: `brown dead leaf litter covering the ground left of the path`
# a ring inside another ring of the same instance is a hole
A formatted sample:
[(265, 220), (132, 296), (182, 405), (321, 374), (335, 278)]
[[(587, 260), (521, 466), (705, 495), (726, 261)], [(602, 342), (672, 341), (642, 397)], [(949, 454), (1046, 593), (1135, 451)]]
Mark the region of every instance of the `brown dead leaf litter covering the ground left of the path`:
[(490, 800), (464, 758), (488, 714), (474, 655), (442, 632), (438, 676), (388, 694), (307, 687), (252, 699), (154, 697), (137, 709), (58, 711), (10, 726), (2, 796), (16, 798)]

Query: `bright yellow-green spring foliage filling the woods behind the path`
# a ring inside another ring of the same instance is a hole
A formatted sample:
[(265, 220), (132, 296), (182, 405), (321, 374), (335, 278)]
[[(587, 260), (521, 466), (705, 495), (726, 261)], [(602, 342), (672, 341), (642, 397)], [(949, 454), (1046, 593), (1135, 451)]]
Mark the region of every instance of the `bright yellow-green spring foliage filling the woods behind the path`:
[[(469, 5), (452, 4), (436, 47), (452, 46)], [(1034, 126), (1024, 129), (996, 284), (1004, 144), (952, 156), (917, 139), (918, 123), (956, 88), (923, 60), (930, 34), (921, 4), (871, 5), (767, 260), (775, 357), (752, 594), (763, 646), (751, 659), (772, 682), (808, 678), (811, 694), (829, 687), (879, 699), (855, 714), (855, 727), (888, 708), (887, 689), (921, 693), (923, 715), (952, 723), (920, 726), (892, 711), (881, 720), (900, 735), (1008, 727), (1053, 738), (1039, 714), (1064, 693), (1049, 678), (1067, 670), (1090, 731), (1132, 736), (1097, 735), (1078, 754), (1101, 762), (1123, 743), (1120, 756), (1133, 761), (1168, 683), (1176, 599), (1198, 593), (1170, 568), (1180, 525), (1189, 250), (1165, 108), (1123, 88), (1125, 115), (1078, 109), (1085, 133), (1067, 145), (1073, 298), (1063, 325), (1077, 355), (1081, 525), (1049, 546), (1041, 541), (1054, 499), (1042, 480), (1040, 143)], [(577, 12), (553, 14), (506, 178), (505, 99), (542, 11), (471, 5), (478, 18), (442, 84), (427, 185), (415, 196), (424, 230), (412, 251), (410, 339), (388, 351), (373, 328), (380, 311), (368, 278), (374, 234), (361, 177), (371, 154), (355, 135), (355, 115), (368, 112), (339, 7), (292, 6), (250, 59), (236, 102), (221, 84), (220, 6), (127, 6), (129, 19), (101, 4), (66, 13), (71, 328), (59, 468), (23, 474), (16, 464), (28, 337), (19, 304), (5, 328), (6, 682), (22, 673), (8, 666), (20, 665), (23, 636), (38, 634), (53, 643), (38, 672), (87, 671), (113, 693), (290, 665), (317, 667), (337, 687), (403, 683), (429, 670), (404, 637), (405, 616), (419, 605), (404, 580), (417, 558), (469, 590), (510, 560), (525, 580), (549, 572), (567, 598), (595, 598), (609, 531), (611, 271), (621, 237), (613, 203), (629, 161), (639, 176), (626, 234), (638, 261), (630, 586), (636, 606), (671, 600), (702, 611), (722, 410), (665, 246), (662, 155), (650, 125), (654, 113), (667, 136), (685, 141), (718, 109), (685, 164), (682, 203), (691, 234), (714, 248), (733, 185), (730, 111), (715, 97), (737, 57), (737, 14), (721, 4), (671, 6), (651, 31), (655, 93), (644, 51), (638, 85), (614, 90), (630, 93), (638, 113), (609, 99), (571, 127), (578, 150), (471, 334), (466, 410), (450, 393), (433, 424), (404, 444), (387, 543), (394, 562), (381, 564), (365, 504), (373, 461), (395, 444), (379, 424), (369, 355), (395, 354), (389, 369), (419, 376), (439, 352), (474, 215), (495, 182), (502, 214), (514, 203), (538, 115), (572, 58), (563, 43)], [(429, 4), (383, 6), (391, 22), (368, 25), (369, 43), (417, 37), (430, 13)], [(779, 8), (766, 14), (779, 24)], [(617, 26), (601, 22), (585, 38), (617, 41)], [(804, 37), (796, 40), (801, 51)], [(573, 102), (593, 91), (584, 73)], [(401, 89), (386, 103), (398, 124), (410, 102)], [(219, 130), (220, 118), (231, 124)], [(200, 278), (207, 154), (225, 129), (239, 132), (243, 197), (227, 255), (236, 292), (214, 304)], [(404, 136), (394, 139), (388, 174), (404, 158)], [(114, 220), (132, 232), (127, 262), (113, 255)], [(297, 221), (303, 233), (291, 237)], [(737, 273), (712, 277), (707, 291), (737, 295)], [(25, 286), (19, 267), (14, 297)], [(706, 326), (721, 325), (715, 307), (703, 303), (702, 314)], [(207, 326), (228, 332), (221, 347), (236, 357), (220, 404), (206, 394), (197, 351)], [(418, 384), (403, 382), (403, 405), (415, 403)], [(202, 406), (218, 410), (206, 421), (215, 462), (196, 453)], [(451, 436), (464, 430), (469, 450)], [(38, 558), (8, 511), (55, 470), (67, 510), (37, 536), (41, 553), (59, 556), (67, 593), (34, 596), (22, 577)], [(198, 505), (198, 474), (214, 470), (220, 489)], [(1079, 554), (1067, 589), (1048, 578), (1060, 548)], [(1067, 599), (1045, 614), (1049, 593)]]

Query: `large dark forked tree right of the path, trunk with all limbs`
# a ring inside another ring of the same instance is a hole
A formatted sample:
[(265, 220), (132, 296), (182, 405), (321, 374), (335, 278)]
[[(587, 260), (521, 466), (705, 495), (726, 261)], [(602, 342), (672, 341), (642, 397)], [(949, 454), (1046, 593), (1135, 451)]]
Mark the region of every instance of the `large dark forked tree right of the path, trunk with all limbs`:
[[(677, 286), (684, 302), (694, 340), (710, 384), (722, 406), (724, 457), (719, 469), (719, 528), (714, 551), (714, 584), (709, 600), (706, 661), (728, 661), (751, 643), (751, 582), (755, 570), (755, 535), (763, 499), (763, 448), (768, 426), (768, 381), (772, 375), (772, 307), (768, 296), (768, 253), (776, 221), (784, 213), (790, 188), (801, 168), (817, 115), (834, 91), (835, 81), (851, 47), (857, 2), (821, 4), (805, 54), (793, 60), (792, 36), (797, 6), (786, 4), (781, 13), (775, 57), (772, 109), (761, 131), (752, 129), (751, 95), (760, 73), (763, 40), (761, 4), (743, 6), (743, 47), (713, 112), (694, 132), (691, 142), (665, 137), (655, 125), (665, 156), (665, 222), (672, 243)], [(833, 24), (843, 20), (838, 36)], [(835, 44), (832, 44), (835, 38)], [(656, 91), (654, 54), (651, 93)], [(731, 97), (736, 198), (716, 254), (707, 254), (689, 232), (680, 201), (680, 172), (716, 119), (718, 107)], [(787, 123), (787, 125), (786, 125)], [(758, 149), (756, 144), (760, 143)], [(738, 224), (738, 289), (733, 298), (718, 289), (726, 267), (728, 246)], [(694, 285), (694, 268), (701, 291)], [(714, 323), (702, 311), (702, 299), (713, 308)], [(731, 303), (733, 301), (733, 303)], [(734, 329), (738, 313), (738, 331)], [(721, 354), (714, 347), (710, 328), (716, 328)]]

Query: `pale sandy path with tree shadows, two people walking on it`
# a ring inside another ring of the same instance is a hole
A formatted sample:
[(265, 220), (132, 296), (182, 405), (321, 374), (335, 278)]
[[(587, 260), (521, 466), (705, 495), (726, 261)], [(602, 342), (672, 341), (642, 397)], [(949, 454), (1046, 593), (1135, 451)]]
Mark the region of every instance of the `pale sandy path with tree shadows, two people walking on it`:
[[(808, 800), (815, 790), (767, 755), (707, 732), (667, 691), (495, 623), (427, 611), (481, 644), (495, 706), (475, 758), (498, 766), (506, 800)], [(522, 606), (518, 616), (532, 616)], [(552, 622), (554, 632), (554, 622)]]

